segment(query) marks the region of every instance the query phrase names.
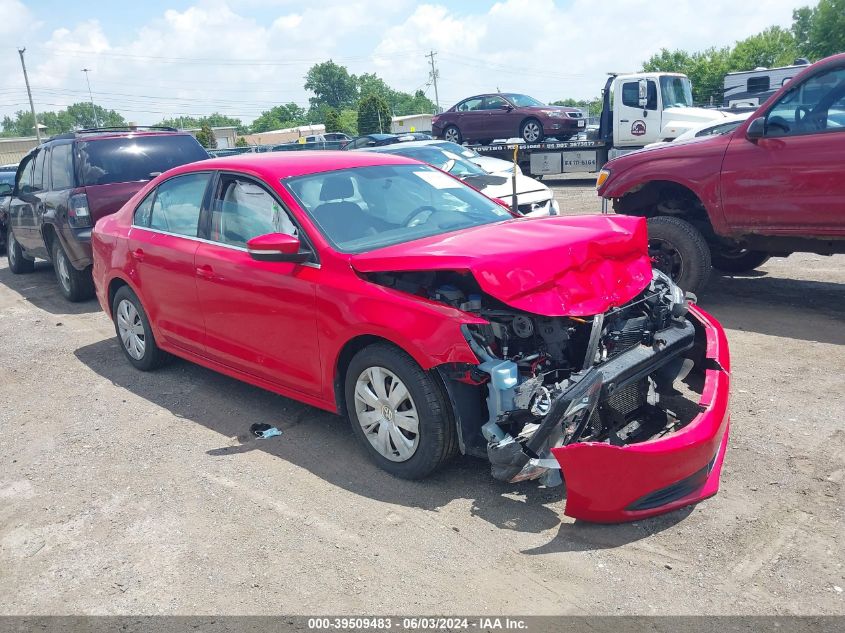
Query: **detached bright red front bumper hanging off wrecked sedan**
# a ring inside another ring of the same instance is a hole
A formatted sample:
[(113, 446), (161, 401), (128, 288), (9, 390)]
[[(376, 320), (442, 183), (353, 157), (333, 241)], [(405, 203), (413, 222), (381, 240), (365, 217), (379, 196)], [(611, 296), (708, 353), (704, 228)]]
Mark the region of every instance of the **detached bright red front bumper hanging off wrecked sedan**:
[(701, 412), (679, 431), (639, 444), (590, 442), (551, 449), (566, 482), (568, 516), (633, 521), (718, 491), (730, 418), (728, 343), (721, 326), (697, 306), (690, 306), (688, 318), (706, 337)]

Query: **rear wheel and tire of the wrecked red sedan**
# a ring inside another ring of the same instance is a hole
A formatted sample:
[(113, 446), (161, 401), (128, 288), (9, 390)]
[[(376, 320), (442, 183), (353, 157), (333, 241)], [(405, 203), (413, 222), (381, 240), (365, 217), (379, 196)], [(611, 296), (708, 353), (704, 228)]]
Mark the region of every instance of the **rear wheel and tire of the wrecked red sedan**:
[(117, 339), (129, 362), (141, 371), (161, 367), (167, 354), (156, 344), (144, 306), (129, 286), (122, 286), (114, 294), (112, 318)]

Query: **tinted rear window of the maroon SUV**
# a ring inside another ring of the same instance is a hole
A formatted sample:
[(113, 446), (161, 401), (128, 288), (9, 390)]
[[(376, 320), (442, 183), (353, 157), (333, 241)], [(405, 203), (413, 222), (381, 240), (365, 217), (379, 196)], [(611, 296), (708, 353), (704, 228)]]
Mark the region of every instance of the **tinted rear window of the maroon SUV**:
[(77, 151), (84, 185), (150, 180), (172, 167), (208, 158), (196, 139), (187, 134), (79, 141)]

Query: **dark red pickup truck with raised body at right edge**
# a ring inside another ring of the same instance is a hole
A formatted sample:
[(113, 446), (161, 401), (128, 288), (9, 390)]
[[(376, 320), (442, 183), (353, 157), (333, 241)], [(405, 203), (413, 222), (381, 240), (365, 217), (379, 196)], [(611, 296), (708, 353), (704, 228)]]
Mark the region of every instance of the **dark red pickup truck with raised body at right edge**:
[(648, 218), (656, 268), (697, 292), (794, 252), (845, 253), (845, 54), (784, 85), (734, 132), (616, 158), (598, 193)]

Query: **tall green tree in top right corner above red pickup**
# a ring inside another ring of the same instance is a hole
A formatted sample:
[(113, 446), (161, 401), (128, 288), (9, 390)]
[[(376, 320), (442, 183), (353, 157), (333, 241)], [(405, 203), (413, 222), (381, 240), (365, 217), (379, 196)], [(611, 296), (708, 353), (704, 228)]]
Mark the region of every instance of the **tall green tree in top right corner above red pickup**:
[(819, 0), (792, 12), (798, 52), (812, 60), (845, 51), (845, 0)]

